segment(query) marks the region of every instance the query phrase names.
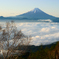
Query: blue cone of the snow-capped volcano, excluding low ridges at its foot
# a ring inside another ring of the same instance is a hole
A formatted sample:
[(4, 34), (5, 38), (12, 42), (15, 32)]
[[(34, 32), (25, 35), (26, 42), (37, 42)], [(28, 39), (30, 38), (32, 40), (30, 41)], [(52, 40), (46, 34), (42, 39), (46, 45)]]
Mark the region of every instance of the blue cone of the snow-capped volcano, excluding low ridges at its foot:
[(54, 16), (51, 16), (51, 15), (43, 12), (39, 8), (34, 8), (33, 10), (31, 10), (27, 13), (21, 14), (21, 15), (17, 15), (16, 17), (28, 18), (28, 19), (54, 19), (54, 18), (56, 18)]

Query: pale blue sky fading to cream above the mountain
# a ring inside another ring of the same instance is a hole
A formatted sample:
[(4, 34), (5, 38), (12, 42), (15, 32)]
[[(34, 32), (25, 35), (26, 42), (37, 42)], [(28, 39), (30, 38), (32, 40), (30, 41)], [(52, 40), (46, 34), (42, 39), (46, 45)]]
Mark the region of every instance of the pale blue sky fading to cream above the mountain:
[(59, 17), (59, 0), (0, 0), (0, 16), (15, 16), (34, 8)]

